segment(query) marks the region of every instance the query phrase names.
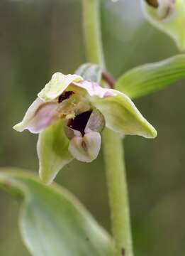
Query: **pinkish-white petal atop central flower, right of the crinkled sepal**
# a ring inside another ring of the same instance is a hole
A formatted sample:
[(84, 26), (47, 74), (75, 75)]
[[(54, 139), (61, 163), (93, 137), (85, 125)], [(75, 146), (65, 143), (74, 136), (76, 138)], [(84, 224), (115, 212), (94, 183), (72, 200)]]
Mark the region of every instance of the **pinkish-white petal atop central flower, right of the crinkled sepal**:
[(97, 97), (103, 98), (103, 97), (110, 97), (114, 95), (110, 89), (103, 88), (97, 82), (93, 82), (90, 80), (73, 82), (73, 85), (76, 85), (80, 88), (85, 89), (90, 96), (97, 96)]

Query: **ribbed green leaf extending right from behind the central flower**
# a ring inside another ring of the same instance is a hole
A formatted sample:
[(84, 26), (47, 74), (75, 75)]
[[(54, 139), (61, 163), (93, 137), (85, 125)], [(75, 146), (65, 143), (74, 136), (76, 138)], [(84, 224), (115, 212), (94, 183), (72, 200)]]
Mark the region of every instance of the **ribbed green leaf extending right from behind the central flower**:
[(116, 90), (130, 98), (148, 95), (185, 78), (185, 55), (141, 65), (123, 74), (116, 82)]

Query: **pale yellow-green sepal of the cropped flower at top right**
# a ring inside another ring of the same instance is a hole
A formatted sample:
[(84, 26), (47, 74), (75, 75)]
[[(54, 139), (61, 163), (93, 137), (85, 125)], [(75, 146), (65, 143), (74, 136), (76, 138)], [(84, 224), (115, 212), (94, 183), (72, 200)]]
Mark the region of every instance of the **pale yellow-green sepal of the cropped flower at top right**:
[[(159, 1), (162, 2), (164, 0)], [(166, 0), (165, 0), (166, 1)], [(159, 8), (159, 7), (158, 7)], [(176, 46), (180, 50), (185, 49), (185, 1), (175, 0), (174, 10), (169, 12), (169, 15), (161, 17), (159, 11), (156, 8), (150, 6), (145, 0), (142, 0), (142, 10), (152, 25), (167, 33), (176, 42)], [(168, 14), (168, 10), (167, 10)]]

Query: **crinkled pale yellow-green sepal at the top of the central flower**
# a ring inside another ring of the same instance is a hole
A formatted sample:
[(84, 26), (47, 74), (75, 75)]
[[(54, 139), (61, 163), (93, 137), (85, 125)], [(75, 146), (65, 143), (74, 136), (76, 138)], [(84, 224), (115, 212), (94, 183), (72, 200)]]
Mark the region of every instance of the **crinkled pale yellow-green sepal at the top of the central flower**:
[(38, 97), (44, 102), (55, 100), (72, 82), (79, 82), (80, 80), (83, 80), (80, 75), (64, 75), (57, 72), (52, 75), (52, 79), (45, 85), (43, 90), (38, 93)]

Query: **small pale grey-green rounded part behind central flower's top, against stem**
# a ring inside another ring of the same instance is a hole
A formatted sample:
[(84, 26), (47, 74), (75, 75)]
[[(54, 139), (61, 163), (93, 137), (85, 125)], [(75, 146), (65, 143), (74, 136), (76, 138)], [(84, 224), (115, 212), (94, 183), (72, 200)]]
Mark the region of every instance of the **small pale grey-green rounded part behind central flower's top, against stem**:
[(101, 82), (102, 68), (96, 64), (85, 63), (79, 66), (75, 74), (82, 76), (84, 80)]

